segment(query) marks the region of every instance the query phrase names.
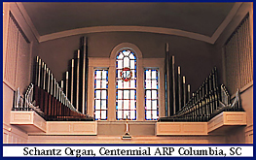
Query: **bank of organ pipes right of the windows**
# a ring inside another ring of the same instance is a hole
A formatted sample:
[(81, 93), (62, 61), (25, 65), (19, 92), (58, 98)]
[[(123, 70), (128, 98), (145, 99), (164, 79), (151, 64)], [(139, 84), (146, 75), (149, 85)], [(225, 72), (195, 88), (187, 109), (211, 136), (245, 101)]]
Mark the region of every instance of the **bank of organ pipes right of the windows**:
[(165, 52), (165, 117), (159, 121), (208, 121), (220, 112), (241, 112), (239, 90), (231, 104), (230, 95), (224, 84), (218, 85), (217, 68), (212, 69), (196, 92), (181, 76), (181, 68), (175, 74), (174, 56), (169, 55), (168, 44)]

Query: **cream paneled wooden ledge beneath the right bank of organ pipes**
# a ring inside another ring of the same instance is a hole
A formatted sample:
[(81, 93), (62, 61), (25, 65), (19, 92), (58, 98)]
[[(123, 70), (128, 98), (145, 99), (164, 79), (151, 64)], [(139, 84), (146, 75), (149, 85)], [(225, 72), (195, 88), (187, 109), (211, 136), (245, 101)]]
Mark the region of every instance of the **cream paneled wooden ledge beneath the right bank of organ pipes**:
[(157, 122), (157, 136), (208, 135), (212, 132), (225, 133), (246, 125), (246, 112), (221, 112), (208, 122)]

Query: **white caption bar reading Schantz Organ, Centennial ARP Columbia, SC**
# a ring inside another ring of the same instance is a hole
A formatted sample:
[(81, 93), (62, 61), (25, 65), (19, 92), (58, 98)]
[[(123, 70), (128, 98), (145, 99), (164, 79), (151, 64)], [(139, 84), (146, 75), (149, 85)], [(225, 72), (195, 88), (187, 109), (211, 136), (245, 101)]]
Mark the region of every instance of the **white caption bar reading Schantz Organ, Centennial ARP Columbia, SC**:
[(175, 156), (252, 157), (253, 146), (238, 145), (4, 145), (4, 157)]

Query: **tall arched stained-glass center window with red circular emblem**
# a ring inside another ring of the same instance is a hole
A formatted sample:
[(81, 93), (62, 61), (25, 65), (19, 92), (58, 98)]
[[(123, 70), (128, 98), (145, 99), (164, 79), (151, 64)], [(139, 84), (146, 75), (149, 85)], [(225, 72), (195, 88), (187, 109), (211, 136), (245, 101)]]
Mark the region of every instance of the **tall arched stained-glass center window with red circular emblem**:
[(116, 57), (116, 119), (136, 119), (136, 56), (130, 49)]

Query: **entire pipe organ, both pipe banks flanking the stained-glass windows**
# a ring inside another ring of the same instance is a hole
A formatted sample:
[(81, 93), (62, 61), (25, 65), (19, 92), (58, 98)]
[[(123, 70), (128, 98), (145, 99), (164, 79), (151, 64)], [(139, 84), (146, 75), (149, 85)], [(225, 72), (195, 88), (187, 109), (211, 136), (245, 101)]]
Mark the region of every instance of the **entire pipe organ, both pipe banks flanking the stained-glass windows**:
[[(93, 120), (87, 114), (88, 102), (87, 39), (81, 38), (80, 48), (69, 61), (62, 80), (55, 80), (47, 64), (36, 56), (33, 82), (22, 98), (15, 94), (14, 111), (38, 112), (47, 120)], [(231, 103), (224, 84), (218, 84), (217, 69), (212, 69), (196, 92), (175, 66), (174, 56), (165, 49), (165, 117), (160, 121), (208, 121), (223, 111), (243, 111), (239, 105), (239, 91)]]

